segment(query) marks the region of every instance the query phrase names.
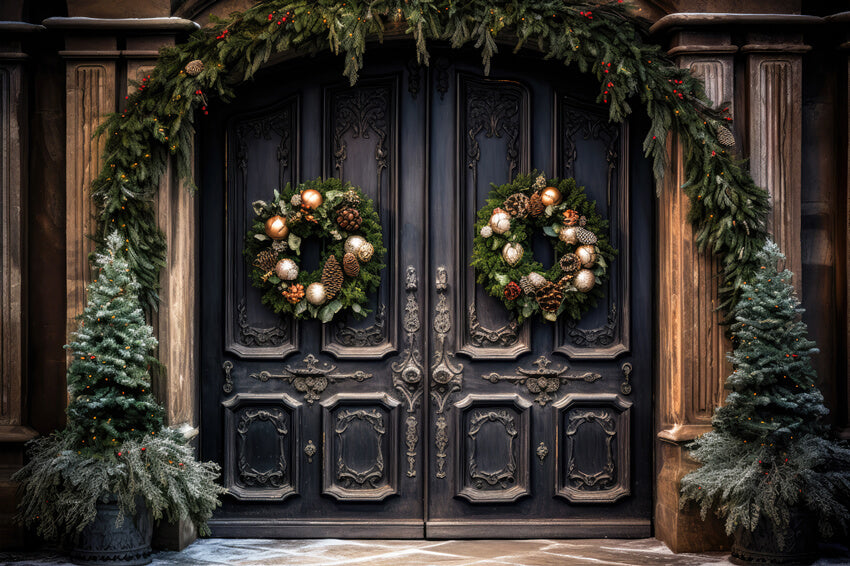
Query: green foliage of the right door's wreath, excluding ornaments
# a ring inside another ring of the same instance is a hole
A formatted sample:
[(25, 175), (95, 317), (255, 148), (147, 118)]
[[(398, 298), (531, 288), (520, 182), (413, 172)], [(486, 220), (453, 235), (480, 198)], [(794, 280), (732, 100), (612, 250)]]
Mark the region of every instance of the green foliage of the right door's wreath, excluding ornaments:
[[(575, 179), (546, 180), (543, 186), (560, 190), (562, 200), (557, 205), (546, 207), (542, 214), (538, 216), (529, 214), (524, 218), (512, 217), (510, 230), (504, 234), (490, 231), (492, 234), (485, 237), (481, 233), (481, 230), (489, 225), (493, 211), (496, 208), (504, 208), (505, 201), (511, 195), (519, 193), (527, 197), (531, 196), (536, 190), (537, 178), (538, 173), (534, 171), (529, 175), (518, 175), (511, 183), (492, 185), (486, 204), (478, 211), (471, 265), (476, 269), (477, 280), (484, 285), (487, 293), (500, 299), (505, 308), (516, 315), (518, 322), (537, 313), (550, 321), (556, 320), (563, 313), (573, 319), (579, 319), (584, 312), (596, 305), (597, 300), (602, 298), (602, 284), (608, 278), (608, 265), (617, 252), (608, 239), (608, 221), (603, 220), (596, 212), (596, 202), (587, 199), (584, 188), (577, 186)], [(579, 292), (573, 285), (565, 285), (564, 299), (555, 312), (541, 309), (534, 295), (526, 292), (513, 299), (506, 296), (505, 290), (508, 285), (519, 285), (519, 282), (531, 273), (539, 273), (552, 283), (557, 283), (567, 275), (561, 269), (558, 258), (575, 252), (581, 244), (567, 244), (558, 237), (563, 226), (562, 213), (566, 210), (574, 210), (583, 216), (586, 219), (583, 227), (593, 232), (598, 238), (595, 244), (597, 259), (591, 268), (596, 276), (596, 285), (586, 293)], [(535, 232), (543, 232), (552, 242), (555, 261), (549, 269), (544, 268), (543, 264), (533, 256), (532, 236)], [(518, 243), (524, 250), (522, 258), (513, 266), (502, 257), (502, 249), (508, 243)]]

